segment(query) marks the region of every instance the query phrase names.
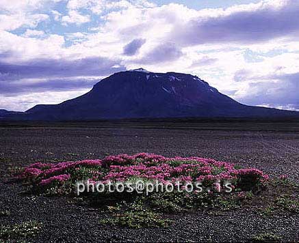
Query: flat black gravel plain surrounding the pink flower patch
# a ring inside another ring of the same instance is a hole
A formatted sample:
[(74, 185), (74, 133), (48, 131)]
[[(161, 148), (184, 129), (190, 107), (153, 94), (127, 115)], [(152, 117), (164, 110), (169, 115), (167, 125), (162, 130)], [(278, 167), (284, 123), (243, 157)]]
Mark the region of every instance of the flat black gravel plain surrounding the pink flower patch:
[[(109, 154), (151, 152), (164, 156), (202, 156), (286, 174), (299, 181), (299, 122), (86, 122), (1, 124), (0, 224), (37, 220), (44, 227), (32, 242), (248, 242), (274, 233), (299, 241), (299, 215), (259, 216), (252, 208), (177, 214), (167, 229), (126, 229), (99, 225), (96, 208), (66, 197), (22, 195), (9, 182), (8, 167), (36, 161), (103, 158)], [(9, 183), (8, 183), (9, 182)]]

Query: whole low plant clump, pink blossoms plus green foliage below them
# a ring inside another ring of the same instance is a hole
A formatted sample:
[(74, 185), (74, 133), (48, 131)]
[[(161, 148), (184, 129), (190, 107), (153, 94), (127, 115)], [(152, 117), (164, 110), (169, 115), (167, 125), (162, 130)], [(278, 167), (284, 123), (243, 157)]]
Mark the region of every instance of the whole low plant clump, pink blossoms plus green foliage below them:
[[(140, 228), (168, 226), (171, 220), (163, 218), (166, 213), (198, 208), (218, 208), (222, 211), (238, 208), (240, 201), (252, 197), (251, 190), (268, 180), (268, 175), (257, 169), (243, 169), (229, 162), (208, 158), (166, 158), (141, 153), (107, 156), (103, 160), (37, 162), (25, 167), (18, 179), (28, 182), (33, 192), (72, 194), (74, 197), (77, 196), (75, 184), (82, 180), (92, 184), (101, 182), (104, 188), (110, 182), (122, 182), (126, 188), (129, 183), (159, 182), (163, 190), (104, 190), (80, 195), (83, 201), (89, 201), (94, 206), (108, 207), (112, 217), (104, 218), (101, 224)], [(196, 182), (201, 183), (203, 190), (189, 190), (187, 184)], [(226, 190), (226, 182), (230, 183), (229, 191)], [(167, 191), (169, 184), (176, 188)]]

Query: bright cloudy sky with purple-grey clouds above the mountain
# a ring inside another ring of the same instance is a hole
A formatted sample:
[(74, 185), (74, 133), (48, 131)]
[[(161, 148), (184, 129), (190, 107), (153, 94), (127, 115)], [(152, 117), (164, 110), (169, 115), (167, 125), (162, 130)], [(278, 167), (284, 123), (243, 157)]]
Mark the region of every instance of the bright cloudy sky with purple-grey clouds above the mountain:
[(299, 0), (0, 0), (0, 109), (57, 104), (142, 67), (299, 111), (298, 12)]

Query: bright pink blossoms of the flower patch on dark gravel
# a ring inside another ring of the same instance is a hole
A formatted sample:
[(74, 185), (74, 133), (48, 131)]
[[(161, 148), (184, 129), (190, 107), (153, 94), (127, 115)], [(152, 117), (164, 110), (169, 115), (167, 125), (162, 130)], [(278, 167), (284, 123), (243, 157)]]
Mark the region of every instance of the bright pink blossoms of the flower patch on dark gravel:
[[(35, 180), (40, 186), (49, 185), (52, 182), (65, 182), (77, 180), (78, 173), (86, 171), (92, 181), (126, 181), (132, 177), (146, 180), (159, 180), (168, 182), (213, 182), (215, 180), (242, 180), (250, 178), (254, 183), (268, 180), (268, 175), (258, 169), (235, 169), (229, 162), (216, 161), (210, 158), (166, 158), (156, 154), (140, 153), (133, 156), (120, 154), (107, 156), (103, 160), (81, 160), (59, 163), (40, 163), (26, 167), (21, 178)], [(81, 175), (82, 176), (82, 175)]]

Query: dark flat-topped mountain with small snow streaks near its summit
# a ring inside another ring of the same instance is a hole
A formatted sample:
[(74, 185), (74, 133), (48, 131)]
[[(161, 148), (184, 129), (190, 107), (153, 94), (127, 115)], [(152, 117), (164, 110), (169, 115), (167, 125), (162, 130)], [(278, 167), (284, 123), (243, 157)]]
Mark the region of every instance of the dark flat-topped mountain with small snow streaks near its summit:
[(61, 104), (40, 104), (13, 119), (92, 120), (157, 117), (299, 117), (296, 111), (246, 106), (197, 76), (142, 68), (118, 72)]

